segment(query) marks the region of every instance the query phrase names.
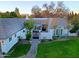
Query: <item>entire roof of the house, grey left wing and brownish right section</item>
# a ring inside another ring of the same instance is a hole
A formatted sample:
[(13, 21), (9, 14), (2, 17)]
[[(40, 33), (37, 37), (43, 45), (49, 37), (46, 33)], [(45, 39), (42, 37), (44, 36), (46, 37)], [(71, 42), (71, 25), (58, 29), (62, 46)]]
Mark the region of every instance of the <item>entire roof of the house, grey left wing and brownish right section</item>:
[[(50, 19), (50, 20), (49, 20)], [(24, 28), (24, 21), (29, 18), (0, 18), (0, 39), (11, 37), (14, 33)], [(54, 25), (67, 27), (65, 18), (33, 18), (37, 24), (48, 24), (50, 28)]]

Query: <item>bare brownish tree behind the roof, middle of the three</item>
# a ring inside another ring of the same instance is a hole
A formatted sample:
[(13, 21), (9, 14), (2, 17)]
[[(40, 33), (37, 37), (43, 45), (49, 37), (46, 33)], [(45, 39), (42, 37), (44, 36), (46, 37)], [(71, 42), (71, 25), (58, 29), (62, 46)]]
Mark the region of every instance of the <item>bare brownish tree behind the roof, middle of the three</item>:
[(42, 16), (50, 17), (51, 14), (54, 12), (54, 3), (51, 2), (49, 5), (47, 3), (43, 4), (44, 10), (42, 11)]

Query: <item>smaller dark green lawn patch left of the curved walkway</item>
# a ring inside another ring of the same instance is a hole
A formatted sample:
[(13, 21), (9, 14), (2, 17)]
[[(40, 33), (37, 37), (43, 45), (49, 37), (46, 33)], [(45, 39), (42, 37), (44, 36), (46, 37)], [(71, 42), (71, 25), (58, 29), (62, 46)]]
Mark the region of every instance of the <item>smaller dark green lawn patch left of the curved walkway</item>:
[(12, 50), (5, 56), (7, 58), (15, 58), (25, 55), (30, 49), (30, 44), (16, 44)]

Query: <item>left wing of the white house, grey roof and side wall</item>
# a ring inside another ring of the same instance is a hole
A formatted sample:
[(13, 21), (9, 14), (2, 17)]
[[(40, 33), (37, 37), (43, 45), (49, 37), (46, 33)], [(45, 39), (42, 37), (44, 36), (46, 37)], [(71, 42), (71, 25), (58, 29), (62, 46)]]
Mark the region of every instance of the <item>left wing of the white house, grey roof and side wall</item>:
[(18, 36), (24, 37), (25, 18), (0, 18), (0, 52), (7, 53), (18, 42)]

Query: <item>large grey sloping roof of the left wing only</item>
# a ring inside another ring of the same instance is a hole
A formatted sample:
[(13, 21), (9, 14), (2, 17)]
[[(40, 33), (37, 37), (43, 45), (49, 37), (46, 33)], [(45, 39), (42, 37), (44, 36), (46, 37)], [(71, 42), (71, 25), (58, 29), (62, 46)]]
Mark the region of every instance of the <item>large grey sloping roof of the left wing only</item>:
[(0, 39), (11, 37), (23, 28), (25, 18), (0, 18)]

